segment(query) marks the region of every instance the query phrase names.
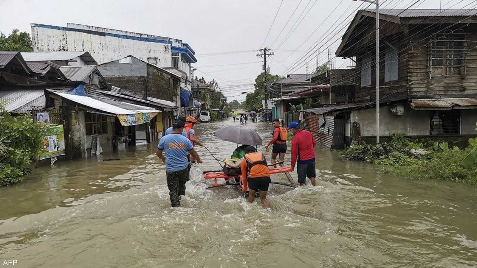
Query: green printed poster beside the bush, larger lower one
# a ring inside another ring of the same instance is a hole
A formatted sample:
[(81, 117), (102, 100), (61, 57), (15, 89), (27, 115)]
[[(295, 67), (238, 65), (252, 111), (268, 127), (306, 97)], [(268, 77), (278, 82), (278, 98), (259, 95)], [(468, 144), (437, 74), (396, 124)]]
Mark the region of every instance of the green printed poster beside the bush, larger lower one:
[(45, 134), (40, 160), (64, 155), (63, 125), (46, 125), (43, 130)]

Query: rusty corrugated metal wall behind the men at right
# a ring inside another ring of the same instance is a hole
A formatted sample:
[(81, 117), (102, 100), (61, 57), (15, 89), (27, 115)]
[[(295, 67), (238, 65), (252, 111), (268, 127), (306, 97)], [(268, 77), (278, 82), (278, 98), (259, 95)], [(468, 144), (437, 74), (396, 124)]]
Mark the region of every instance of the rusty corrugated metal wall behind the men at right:
[[(318, 122), (324, 123), (320, 126)], [(306, 129), (313, 134), (318, 144), (331, 148), (333, 144), (334, 116), (316, 115), (304, 113), (303, 120), (300, 120), (302, 129)]]

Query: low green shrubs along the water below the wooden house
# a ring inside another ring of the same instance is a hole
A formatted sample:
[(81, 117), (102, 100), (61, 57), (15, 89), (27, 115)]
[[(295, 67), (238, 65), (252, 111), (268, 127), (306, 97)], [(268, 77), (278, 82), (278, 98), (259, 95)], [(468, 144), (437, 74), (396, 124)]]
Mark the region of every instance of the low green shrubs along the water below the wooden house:
[[(389, 143), (367, 144), (353, 142), (345, 151), (339, 153), (343, 160), (354, 160), (384, 166), (384, 170), (411, 179), (452, 180), (477, 185), (477, 163), (469, 160), (461, 165), (463, 159), (477, 148), (477, 140), (469, 139), (469, 146), (460, 150), (449, 148), (447, 142), (410, 142), (404, 134), (396, 133)], [(425, 150), (423, 150), (425, 148)], [(425, 154), (412, 150), (420, 149)]]

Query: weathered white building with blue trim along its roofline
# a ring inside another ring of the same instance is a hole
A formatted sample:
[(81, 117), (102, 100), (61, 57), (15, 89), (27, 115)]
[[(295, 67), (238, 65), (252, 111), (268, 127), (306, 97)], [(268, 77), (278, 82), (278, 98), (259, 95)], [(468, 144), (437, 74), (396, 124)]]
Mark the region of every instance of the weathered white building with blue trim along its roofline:
[(191, 64), (197, 59), (179, 39), (75, 23), (66, 27), (31, 23), (31, 40), (34, 52), (87, 51), (98, 64), (133, 55), (181, 75), (182, 92), (191, 91)]

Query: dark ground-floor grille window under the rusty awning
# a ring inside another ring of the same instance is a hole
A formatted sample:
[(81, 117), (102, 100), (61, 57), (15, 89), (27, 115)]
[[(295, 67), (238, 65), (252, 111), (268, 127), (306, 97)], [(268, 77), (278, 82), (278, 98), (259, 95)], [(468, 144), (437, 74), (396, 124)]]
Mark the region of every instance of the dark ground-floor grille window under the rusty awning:
[(431, 135), (459, 135), (459, 110), (431, 112)]

